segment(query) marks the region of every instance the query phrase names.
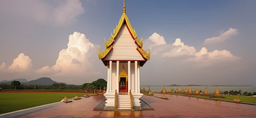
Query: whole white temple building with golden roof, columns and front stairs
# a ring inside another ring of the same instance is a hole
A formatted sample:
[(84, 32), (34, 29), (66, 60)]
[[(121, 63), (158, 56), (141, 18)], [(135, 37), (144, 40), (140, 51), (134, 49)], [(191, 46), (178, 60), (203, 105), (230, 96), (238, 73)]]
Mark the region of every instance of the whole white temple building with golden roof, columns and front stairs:
[(105, 107), (140, 107), (139, 98), (143, 95), (140, 93), (140, 67), (150, 60), (150, 50), (146, 53), (142, 49), (143, 41), (137, 38), (130, 24), (125, 12), (125, 3), (114, 33), (104, 44), (105, 49), (102, 52), (98, 49), (98, 56), (108, 69)]

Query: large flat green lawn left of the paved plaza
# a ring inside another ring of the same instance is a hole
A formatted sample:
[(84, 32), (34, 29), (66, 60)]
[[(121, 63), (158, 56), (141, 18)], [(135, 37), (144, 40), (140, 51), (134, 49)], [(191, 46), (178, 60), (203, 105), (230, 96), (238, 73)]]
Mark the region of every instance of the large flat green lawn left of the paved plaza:
[(0, 114), (60, 102), (84, 93), (0, 93)]

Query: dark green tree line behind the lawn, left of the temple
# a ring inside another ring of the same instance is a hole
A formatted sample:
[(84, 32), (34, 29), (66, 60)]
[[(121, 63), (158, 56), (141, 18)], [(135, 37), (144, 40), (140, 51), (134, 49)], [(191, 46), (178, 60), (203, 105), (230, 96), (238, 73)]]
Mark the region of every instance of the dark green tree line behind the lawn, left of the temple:
[(92, 83), (84, 83), (82, 85), (67, 85), (64, 83), (53, 83), (52, 85), (25, 85), (19, 81), (12, 81), (11, 84), (0, 84), (3, 90), (99, 90), (106, 87), (106, 80), (100, 78)]

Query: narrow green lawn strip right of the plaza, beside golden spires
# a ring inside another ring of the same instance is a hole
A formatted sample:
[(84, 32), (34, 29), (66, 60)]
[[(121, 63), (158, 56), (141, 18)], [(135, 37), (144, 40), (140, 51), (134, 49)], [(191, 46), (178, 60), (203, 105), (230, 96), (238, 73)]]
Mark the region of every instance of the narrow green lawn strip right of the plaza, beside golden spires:
[(227, 100), (227, 101), (232, 101), (235, 98), (239, 98), (240, 101), (246, 102), (246, 103), (253, 103), (256, 104), (256, 97), (248, 97), (248, 96), (225, 96), (226, 98), (210, 98), (209, 96), (197, 96), (197, 95), (185, 95), (185, 94), (178, 94), (178, 93), (172, 93), (172, 95), (180, 95), (180, 96), (195, 96), (195, 97), (200, 97), (200, 98), (209, 98), (209, 99), (218, 99), (218, 100)]

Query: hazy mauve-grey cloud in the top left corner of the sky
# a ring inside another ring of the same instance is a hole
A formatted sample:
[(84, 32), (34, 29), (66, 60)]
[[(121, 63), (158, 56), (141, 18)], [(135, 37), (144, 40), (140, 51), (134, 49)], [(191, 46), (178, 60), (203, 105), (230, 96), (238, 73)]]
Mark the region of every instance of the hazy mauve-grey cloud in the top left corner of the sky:
[[(15, 4), (13, 4), (15, 3)], [(84, 13), (78, 0), (66, 1), (2, 1), (0, 11), (14, 18), (34, 19), (54, 25), (71, 24)], [(1, 12), (0, 12), (1, 13)]]

